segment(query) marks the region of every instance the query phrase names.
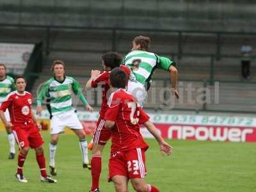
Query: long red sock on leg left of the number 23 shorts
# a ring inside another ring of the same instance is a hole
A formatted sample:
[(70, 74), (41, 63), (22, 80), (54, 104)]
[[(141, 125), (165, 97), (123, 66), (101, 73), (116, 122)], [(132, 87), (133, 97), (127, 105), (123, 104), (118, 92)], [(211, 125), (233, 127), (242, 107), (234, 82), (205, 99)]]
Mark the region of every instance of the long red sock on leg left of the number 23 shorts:
[(91, 191), (94, 191), (95, 189), (99, 188), (99, 179), (100, 179), (100, 172), (101, 172), (101, 156), (100, 155), (92, 156), (91, 166), (92, 166)]

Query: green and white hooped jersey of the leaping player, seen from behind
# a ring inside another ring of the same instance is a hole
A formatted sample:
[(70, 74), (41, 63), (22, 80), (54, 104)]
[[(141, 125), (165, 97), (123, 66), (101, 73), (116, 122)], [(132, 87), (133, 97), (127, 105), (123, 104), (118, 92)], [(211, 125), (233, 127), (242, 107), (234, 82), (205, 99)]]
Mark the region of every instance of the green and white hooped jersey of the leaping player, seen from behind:
[(157, 56), (153, 52), (143, 50), (134, 50), (129, 52), (123, 59), (122, 64), (131, 68), (130, 81), (141, 83), (150, 83), (154, 70), (161, 68), (169, 70), (171, 65), (175, 66), (175, 62), (168, 58)]

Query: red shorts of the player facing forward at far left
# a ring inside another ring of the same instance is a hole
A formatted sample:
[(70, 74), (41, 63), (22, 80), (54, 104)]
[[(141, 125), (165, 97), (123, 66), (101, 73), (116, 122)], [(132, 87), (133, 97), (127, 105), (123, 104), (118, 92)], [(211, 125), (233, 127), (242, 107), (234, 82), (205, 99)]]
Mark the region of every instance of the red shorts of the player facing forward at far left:
[(13, 134), (20, 149), (24, 147), (36, 148), (44, 143), (38, 128), (33, 123), (26, 127), (22, 126), (22, 128), (15, 126), (13, 128)]

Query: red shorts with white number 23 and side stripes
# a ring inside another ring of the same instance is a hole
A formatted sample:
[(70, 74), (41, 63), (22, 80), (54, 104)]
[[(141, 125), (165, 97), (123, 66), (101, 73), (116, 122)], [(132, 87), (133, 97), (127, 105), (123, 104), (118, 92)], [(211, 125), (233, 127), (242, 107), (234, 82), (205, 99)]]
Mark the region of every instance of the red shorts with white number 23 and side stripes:
[(145, 167), (145, 149), (134, 148), (112, 154), (109, 159), (108, 168), (109, 181), (115, 175), (123, 175), (129, 179), (144, 178), (147, 173)]

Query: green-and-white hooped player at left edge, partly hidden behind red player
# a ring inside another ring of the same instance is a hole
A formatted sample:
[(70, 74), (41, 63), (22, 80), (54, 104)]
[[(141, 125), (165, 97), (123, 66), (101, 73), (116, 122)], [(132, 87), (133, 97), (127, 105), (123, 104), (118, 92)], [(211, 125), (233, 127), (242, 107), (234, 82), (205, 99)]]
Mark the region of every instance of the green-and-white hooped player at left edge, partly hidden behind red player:
[[(6, 66), (3, 63), (0, 63), (0, 104), (4, 101), (6, 96), (15, 90), (14, 79), (10, 76), (6, 76)], [(10, 114), (8, 109), (4, 113), (5, 118), (10, 122)], [(5, 128), (8, 134), (8, 141), (10, 144), (10, 154), (8, 159), (14, 159), (15, 157), (15, 138), (12, 133), (12, 129)]]

